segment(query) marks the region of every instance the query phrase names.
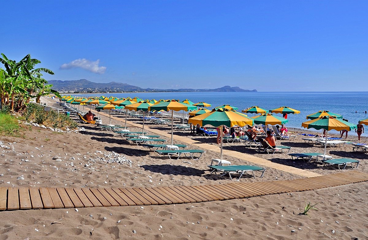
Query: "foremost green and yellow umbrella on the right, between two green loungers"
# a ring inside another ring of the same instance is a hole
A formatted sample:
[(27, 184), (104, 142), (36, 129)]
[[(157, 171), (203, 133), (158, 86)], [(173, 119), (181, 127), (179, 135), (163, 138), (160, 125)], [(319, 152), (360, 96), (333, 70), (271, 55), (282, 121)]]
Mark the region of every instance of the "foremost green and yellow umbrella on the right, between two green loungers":
[[(336, 130), (336, 131), (342, 131), (347, 130), (351, 131), (357, 128), (357, 125), (349, 123), (347, 121), (344, 121), (342, 119), (339, 119), (335, 116), (324, 116), (319, 119), (313, 119), (306, 121), (301, 124), (304, 128), (314, 128), (316, 130), (324, 129), (326, 130), (326, 137), (325, 137), (325, 152), (323, 155), (326, 155), (326, 146), (327, 146), (327, 135), (329, 130)], [(323, 159), (325, 159), (323, 157)]]

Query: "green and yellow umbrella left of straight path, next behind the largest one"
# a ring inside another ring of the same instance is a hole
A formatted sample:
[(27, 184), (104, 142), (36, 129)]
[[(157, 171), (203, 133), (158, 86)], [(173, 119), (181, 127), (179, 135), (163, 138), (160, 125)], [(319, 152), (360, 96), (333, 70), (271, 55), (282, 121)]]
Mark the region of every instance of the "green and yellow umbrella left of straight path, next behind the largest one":
[(156, 111), (164, 110), (165, 112), (171, 111), (171, 145), (173, 145), (174, 111), (178, 112), (178, 111), (184, 110), (184, 111), (188, 112), (188, 111), (197, 110), (197, 107), (172, 99), (172, 100), (168, 100), (166, 102), (156, 103), (155, 105), (149, 106), (149, 110), (150, 111), (152, 111), (152, 110), (156, 110)]

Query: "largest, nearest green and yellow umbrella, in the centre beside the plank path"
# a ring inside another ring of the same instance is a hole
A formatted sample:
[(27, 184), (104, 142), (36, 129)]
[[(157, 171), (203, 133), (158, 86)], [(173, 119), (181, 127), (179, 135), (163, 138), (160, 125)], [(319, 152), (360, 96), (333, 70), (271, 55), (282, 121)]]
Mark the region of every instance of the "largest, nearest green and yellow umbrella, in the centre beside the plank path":
[(222, 127), (223, 125), (227, 127), (234, 127), (235, 125), (244, 127), (246, 125), (253, 126), (254, 120), (250, 117), (244, 116), (242, 113), (238, 113), (235, 111), (232, 111), (230, 109), (224, 109), (224, 108), (214, 108), (209, 113), (204, 113), (199, 116), (191, 117), (188, 120), (188, 123), (192, 123), (193, 125), (199, 124), (200, 126), (206, 126), (210, 125), (213, 127), (219, 127), (220, 128), (220, 160), (222, 160)]

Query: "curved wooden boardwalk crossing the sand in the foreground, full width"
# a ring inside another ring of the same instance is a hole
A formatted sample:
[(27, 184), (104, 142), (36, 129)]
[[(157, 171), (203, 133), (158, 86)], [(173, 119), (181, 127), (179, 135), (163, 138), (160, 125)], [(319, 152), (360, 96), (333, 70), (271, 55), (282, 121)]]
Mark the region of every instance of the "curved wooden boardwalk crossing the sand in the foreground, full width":
[(0, 188), (0, 210), (199, 203), (301, 192), (368, 181), (368, 174), (341, 171), (310, 178), (219, 185), (150, 188)]

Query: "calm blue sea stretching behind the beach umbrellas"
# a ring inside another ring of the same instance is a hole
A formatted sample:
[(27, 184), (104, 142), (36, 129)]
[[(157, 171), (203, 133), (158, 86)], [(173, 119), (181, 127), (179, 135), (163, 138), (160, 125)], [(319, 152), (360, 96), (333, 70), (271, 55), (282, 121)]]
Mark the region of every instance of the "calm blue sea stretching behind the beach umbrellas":
[[(368, 92), (149, 92), (105, 94), (106, 97), (138, 97), (142, 99), (189, 99), (192, 102), (207, 102), (212, 107), (230, 104), (242, 109), (259, 106), (264, 109), (275, 109), (289, 106), (300, 110), (300, 114), (289, 114), (287, 127), (301, 128), (307, 121), (308, 114), (318, 110), (329, 110), (343, 115), (349, 122), (357, 124), (358, 120), (368, 118)], [(96, 96), (81, 94), (79, 96)], [(211, 108), (209, 108), (211, 109)], [(355, 111), (357, 111), (355, 113)], [(248, 114), (252, 116), (253, 114)], [(282, 114), (277, 114), (282, 116)], [(365, 129), (368, 132), (368, 126)], [(311, 129), (313, 130), (313, 129)], [(335, 132), (336, 133), (336, 132)], [(355, 134), (355, 131), (349, 132)], [(364, 134), (368, 136), (368, 134)]]

